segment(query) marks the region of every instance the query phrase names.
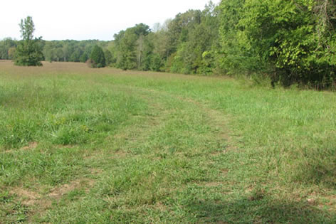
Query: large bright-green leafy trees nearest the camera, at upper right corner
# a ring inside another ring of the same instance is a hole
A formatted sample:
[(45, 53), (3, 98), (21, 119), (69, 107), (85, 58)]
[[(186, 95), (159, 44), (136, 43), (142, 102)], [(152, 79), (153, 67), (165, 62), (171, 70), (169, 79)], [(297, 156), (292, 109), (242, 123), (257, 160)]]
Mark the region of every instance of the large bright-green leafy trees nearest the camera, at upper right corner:
[(221, 67), (229, 74), (267, 73), (272, 82), (285, 86), (332, 85), (335, 3), (222, 1), (220, 9)]

